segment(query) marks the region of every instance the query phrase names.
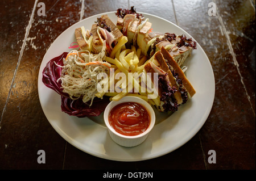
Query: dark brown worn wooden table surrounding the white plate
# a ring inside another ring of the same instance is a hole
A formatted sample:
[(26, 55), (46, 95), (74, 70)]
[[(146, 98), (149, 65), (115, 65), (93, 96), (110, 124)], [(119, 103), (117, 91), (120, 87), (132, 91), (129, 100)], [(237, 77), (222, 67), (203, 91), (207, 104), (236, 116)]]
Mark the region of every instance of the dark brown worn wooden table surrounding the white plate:
[[(216, 94), (203, 127), (179, 149), (118, 162), (84, 153), (57, 134), (40, 106), (37, 81), (44, 54), (61, 32), (89, 16), (130, 6), (170, 20), (195, 38), (212, 64)], [(0, 169), (255, 169), (255, 1), (9, 0), (1, 3), (0, 30)], [(46, 163), (37, 162), (38, 150), (46, 151)], [(216, 151), (216, 163), (208, 162), (209, 150)]]

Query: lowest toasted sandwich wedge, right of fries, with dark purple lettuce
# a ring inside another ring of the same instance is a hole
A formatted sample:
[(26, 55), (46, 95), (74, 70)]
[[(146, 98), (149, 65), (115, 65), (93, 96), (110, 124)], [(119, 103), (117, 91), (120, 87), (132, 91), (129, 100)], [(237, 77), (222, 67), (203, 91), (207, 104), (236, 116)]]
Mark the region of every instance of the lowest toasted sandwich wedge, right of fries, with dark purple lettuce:
[(146, 73), (158, 73), (158, 98), (154, 101), (160, 112), (177, 111), (196, 93), (180, 66), (163, 47), (144, 66), (144, 70)]

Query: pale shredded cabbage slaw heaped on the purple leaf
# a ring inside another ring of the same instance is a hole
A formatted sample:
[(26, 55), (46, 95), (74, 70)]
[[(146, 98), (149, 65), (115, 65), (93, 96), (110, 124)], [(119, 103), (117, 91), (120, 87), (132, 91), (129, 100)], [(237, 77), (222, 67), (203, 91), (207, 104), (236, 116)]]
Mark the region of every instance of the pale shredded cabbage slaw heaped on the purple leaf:
[(90, 53), (88, 50), (71, 50), (66, 58), (63, 58), (64, 66), (61, 70), (61, 88), (67, 92), (71, 99), (82, 98), (84, 103), (90, 102), (92, 106), (93, 99), (97, 93), (97, 79), (99, 73), (109, 73), (111, 65), (104, 62), (106, 43), (98, 54)]

